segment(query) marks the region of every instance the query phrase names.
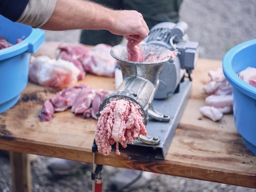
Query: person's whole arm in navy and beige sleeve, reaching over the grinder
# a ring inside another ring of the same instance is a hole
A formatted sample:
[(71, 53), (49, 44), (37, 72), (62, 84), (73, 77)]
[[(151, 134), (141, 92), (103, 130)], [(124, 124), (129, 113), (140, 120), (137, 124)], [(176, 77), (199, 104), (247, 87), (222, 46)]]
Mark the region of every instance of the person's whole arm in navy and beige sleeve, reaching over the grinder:
[[(12, 5), (16, 6), (13, 7)], [(85, 0), (0, 1), (0, 14), (13, 22), (52, 31), (71, 29), (108, 30), (133, 39), (133, 46), (148, 36), (148, 26), (141, 13), (112, 10)], [(6, 10), (10, 10), (8, 12)], [(16, 14), (20, 13), (20, 14)]]

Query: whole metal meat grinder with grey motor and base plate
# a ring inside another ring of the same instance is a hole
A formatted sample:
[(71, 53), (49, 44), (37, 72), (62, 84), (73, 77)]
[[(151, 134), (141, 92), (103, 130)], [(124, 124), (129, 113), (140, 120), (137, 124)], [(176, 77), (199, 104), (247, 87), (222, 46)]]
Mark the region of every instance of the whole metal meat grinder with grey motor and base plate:
[(141, 44), (144, 56), (178, 49), (175, 59), (131, 62), (127, 60), (126, 45), (114, 46), (110, 52), (119, 64), (122, 82), (104, 98), (99, 111), (111, 100), (126, 99), (139, 104), (148, 137), (141, 136), (131, 147), (153, 151), (156, 159), (164, 159), (192, 90), (190, 75), (198, 58), (198, 42), (187, 40), (187, 28), (185, 22), (159, 23)]

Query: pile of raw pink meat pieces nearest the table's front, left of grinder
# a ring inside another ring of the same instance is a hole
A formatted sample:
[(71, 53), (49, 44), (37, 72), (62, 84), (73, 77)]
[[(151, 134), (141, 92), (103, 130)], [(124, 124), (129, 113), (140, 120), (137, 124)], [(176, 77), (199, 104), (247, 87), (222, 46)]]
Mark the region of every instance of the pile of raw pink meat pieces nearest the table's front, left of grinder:
[[(67, 87), (45, 101), (39, 115), (40, 121), (51, 121), (54, 112), (70, 108), (74, 114), (83, 114), (85, 118), (98, 119), (95, 114), (99, 112), (99, 105), (103, 98), (111, 93), (110, 90), (92, 88), (85, 83)], [(101, 96), (97, 97), (97, 95)], [(96, 99), (95, 102), (94, 99)]]

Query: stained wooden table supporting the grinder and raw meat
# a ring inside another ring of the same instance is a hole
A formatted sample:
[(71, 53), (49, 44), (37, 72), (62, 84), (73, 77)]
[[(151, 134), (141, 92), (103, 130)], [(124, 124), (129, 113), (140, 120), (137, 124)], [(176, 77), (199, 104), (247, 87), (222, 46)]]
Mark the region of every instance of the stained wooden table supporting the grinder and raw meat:
[[(45, 43), (40, 54), (48, 48), (49, 44)], [(115, 150), (108, 156), (96, 153), (96, 163), (256, 188), (256, 157), (236, 131), (233, 115), (225, 115), (220, 121), (213, 122), (199, 112), (207, 97), (202, 89), (209, 80), (207, 73), (221, 65), (220, 60), (198, 60), (192, 73), (191, 97), (164, 160), (155, 159), (150, 153), (125, 149), (121, 150), (120, 156)], [(92, 75), (79, 83), (97, 88), (115, 87), (113, 78)], [(26, 154), (92, 163), (96, 120), (74, 116), (67, 110), (54, 114), (50, 122), (39, 121), (38, 114), (44, 101), (56, 91), (28, 83), (18, 103), (0, 114), (0, 149), (11, 151), (13, 191), (31, 191)]]

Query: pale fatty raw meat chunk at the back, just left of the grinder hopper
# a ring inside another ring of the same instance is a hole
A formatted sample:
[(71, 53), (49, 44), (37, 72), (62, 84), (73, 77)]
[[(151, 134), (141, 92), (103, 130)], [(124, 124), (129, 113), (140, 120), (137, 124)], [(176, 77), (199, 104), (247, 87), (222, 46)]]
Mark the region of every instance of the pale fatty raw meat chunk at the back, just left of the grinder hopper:
[(110, 55), (112, 46), (107, 44), (98, 44), (90, 50), (90, 56), (84, 58), (81, 62), (86, 72), (97, 76), (114, 77), (117, 62)]

